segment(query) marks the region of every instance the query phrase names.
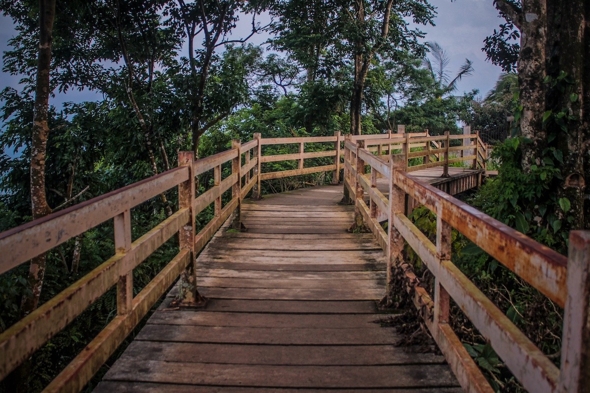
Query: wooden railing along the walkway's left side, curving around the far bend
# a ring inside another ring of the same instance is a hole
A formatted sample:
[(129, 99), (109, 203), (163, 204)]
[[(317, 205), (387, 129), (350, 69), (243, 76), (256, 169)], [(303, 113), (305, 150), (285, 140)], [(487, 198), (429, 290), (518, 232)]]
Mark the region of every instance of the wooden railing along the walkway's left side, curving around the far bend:
[[(407, 146), (409, 152), (416, 144), (425, 146), (421, 139), (415, 139), (424, 137), (427, 137), (426, 134), (398, 138), (397, 134), (390, 133), (353, 138), (365, 141), (377, 150), (381, 148), (383, 151), (383, 146), (389, 151), (392, 146), (401, 146), (402, 149)], [(432, 141), (437, 141), (436, 138)], [(263, 180), (324, 171), (332, 171), (332, 182), (337, 184), (342, 167), (340, 158), (344, 151), (343, 142), (340, 133), (330, 137), (309, 138), (262, 138), (260, 134), (254, 134), (254, 139), (247, 143), (234, 140), (230, 150), (201, 160), (194, 161), (192, 153), (181, 152), (175, 169), (0, 233), (0, 274), (110, 219), (113, 219), (115, 246), (112, 257), (0, 334), (0, 380), (62, 331), (107, 290), (116, 286), (116, 317), (47, 387), (47, 391), (82, 389), (179, 276), (182, 278), (179, 285), (182, 302), (192, 305), (199, 303), (201, 299), (195, 285), (195, 256), (232, 213), (235, 212), (239, 220), (241, 200), (250, 191), (254, 198), (260, 198)], [(327, 150), (324, 151), (306, 152), (308, 143), (315, 144), (316, 148), (317, 144), (329, 146), (325, 146)], [(296, 144), (299, 151), (263, 155), (264, 146), (277, 144)], [(333, 163), (306, 166), (305, 160), (318, 157), (333, 157)], [(290, 160), (297, 161), (297, 169), (263, 171), (263, 163)], [(451, 161), (438, 162), (448, 164)], [(230, 163), (231, 173), (222, 179), (222, 166), (229, 166)], [(211, 170), (214, 186), (197, 196), (195, 177)], [(173, 187), (178, 187), (178, 211), (132, 241), (131, 209)], [(222, 196), (229, 190), (231, 198), (223, 204)], [(196, 232), (196, 214), (211, 204), (214, 217)], [(144, 289), (133, 296), (133, 269), (176, 234), (179, 237), (179, 252)]]

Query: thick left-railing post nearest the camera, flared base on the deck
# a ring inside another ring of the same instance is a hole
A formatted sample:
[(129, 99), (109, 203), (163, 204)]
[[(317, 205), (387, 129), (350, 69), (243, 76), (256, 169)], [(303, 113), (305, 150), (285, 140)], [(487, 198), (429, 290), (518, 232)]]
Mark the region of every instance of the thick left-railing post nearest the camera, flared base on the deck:
[(178, 208), (189, 209), (191, 219), (179, 231), (179, 246), (181, 250), (189, 250), (191, 255), (186, 269), (182, 272), (178, 283), (178, 296), (176, 302), (182, 305), (202, 306), (206, 299), (196, 290), (196, 266), (195, 266), (195, 172), (194, 153), (192, 151), (178, 152), (178, 166), (188, 168), (188, 178), (178, 184)]

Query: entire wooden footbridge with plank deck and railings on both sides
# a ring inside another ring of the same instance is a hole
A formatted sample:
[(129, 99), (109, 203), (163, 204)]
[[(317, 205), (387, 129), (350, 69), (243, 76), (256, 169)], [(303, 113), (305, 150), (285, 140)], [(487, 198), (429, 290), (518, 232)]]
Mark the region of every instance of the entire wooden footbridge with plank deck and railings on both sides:
[[(296, 148), (273, 154), (277, 145)], [(590, 235), (572, 232), (561, 256), (447, 193), (480, 184), (485, 159), (477, 135), (257, 134), (202, 160), (181, 153), (176, 169), (2, 233), (0, 273), (109, 219), (116, 253), (0, 334), (0, 378), (116, 286), (117, 315), (46, 391), (83, 389), (168, 293), (97, 392), (491, 392), (448, 323), (451, 299), (528, 391), (583, 392)], [(294, 168), (269, 170), (276, 161)], [(196, 196), (194, 179), (208, 171), (214, 184)], [(310, 173), (332, 173), (333, 185), (260, 198), (261, 182)], [(130, 210), (173, 187), (179, 209), (132, 241)], [(353, 204), (339, 204), (347, 197)], [(415, 204), (437, 214), (435, 243), (408, 220)], [(195, 215), (210, 205), (214, 217), (197, 231)], [(565, 308), (560, 368), (454, 266), (453, 227)], [(134, 296), (133, 269), (175, 234), (178, 254)], [(404, 241), (434, 288), (405, 262)], [(379, 323), (388, 315), (376, 301), (404, 290), (442, 355), (395, 346), (395, 330)]]

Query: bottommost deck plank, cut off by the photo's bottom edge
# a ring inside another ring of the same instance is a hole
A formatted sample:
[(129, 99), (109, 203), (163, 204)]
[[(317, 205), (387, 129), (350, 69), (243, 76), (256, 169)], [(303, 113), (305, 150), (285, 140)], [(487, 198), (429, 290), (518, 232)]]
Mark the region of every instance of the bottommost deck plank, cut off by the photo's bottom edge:
[[(242, 388), (229, 386), (203, 386), (157, 384), (147, 382), (103, 381), (94, 389), (94, 393), (319, 393), (317, 389), (300, 388)], [(333, 393), (359, 393), (358, 389), (334, 389)], [(408, 388), (395, 389), (395, 393), (463, 393), (461, 388)]]

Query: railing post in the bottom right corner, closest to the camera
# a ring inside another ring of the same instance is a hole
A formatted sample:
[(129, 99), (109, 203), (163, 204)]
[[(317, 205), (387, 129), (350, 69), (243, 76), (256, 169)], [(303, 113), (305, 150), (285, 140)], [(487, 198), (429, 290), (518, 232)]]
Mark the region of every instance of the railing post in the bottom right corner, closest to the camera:
[(567, 272), (558, 392), (582, 393), (590, 387), (590, 231), (569, 233)]

